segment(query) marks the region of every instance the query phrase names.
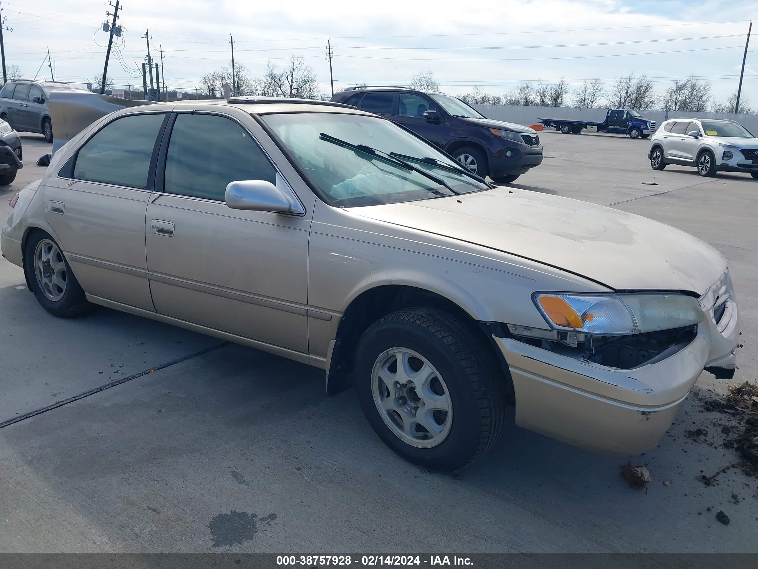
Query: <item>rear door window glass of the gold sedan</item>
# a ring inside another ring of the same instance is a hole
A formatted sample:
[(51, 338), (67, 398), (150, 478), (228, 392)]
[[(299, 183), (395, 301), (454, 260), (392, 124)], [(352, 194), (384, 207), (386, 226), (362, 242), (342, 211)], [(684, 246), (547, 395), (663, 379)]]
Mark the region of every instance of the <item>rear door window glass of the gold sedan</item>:
[(79, 149), (74, 178), (147, 187), (155, 139), (164, 118), (164, 113), (127, 115), (106, 125)]

